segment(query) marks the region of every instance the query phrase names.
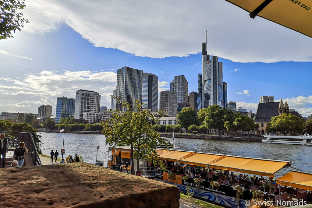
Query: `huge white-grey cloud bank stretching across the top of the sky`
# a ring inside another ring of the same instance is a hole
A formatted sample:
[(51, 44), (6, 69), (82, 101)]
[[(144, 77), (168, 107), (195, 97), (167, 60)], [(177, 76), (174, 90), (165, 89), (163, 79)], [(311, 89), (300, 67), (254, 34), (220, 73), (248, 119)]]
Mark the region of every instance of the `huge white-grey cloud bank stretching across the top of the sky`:
[(135, 56), (197, 54), (207, 30), (208, 53), (234, 62), (312, 61), (310, 37), (251, 19), (226, 1), (32, 0), (26, 5), (25, 31), (45, 33), (67, 24), (96, 47)]

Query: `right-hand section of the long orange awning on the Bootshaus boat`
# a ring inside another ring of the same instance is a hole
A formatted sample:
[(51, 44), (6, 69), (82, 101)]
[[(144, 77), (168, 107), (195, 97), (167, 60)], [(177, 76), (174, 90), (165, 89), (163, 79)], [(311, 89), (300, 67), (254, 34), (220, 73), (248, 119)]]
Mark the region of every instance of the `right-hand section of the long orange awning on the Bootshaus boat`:
[(290, 165), (290, 162), (226, 155), (221, 160), (209, 164), (209, 167), (274, 177), (274, 173), (285, 165)]

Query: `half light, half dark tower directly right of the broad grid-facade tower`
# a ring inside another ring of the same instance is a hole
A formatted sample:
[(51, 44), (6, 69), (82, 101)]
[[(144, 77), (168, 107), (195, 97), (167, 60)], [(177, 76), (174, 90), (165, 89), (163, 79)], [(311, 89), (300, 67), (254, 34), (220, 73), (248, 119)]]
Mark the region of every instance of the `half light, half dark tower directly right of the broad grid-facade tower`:
[(143, 92), (142, 92), (143, 108), (157, 110), (158, 105), (158, 76), (149, 73), (143, 73)]

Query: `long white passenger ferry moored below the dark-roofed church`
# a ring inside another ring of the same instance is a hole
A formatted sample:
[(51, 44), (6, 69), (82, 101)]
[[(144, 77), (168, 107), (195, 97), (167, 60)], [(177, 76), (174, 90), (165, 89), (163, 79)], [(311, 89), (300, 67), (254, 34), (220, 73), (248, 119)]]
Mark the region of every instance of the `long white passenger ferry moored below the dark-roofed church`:
[(277, 133), (270, 133), (269, 135), (263, 136), (262, 142), (277, 144), (312, 145), (312, 136), (307, 133), (300, 136), (277, 136)]

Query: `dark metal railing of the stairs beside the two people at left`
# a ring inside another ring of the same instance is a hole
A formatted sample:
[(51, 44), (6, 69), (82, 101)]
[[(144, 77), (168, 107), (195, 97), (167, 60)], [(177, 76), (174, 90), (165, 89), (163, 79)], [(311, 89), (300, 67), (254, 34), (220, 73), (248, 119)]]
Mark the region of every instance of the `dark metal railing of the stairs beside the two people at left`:
[(11, 143), (14, 143), (15, 147), (18, 147), (18, 143), (24, 142), (28, 150), (30, 159), (32, 161), (32, 165), (42, 165), (31, 133), (26, 132), (3, 132), (3, 133), (6, 134), (7, 138), (11, 136), (11, 138), (14, 139), (14, 141), (11, 141)]

